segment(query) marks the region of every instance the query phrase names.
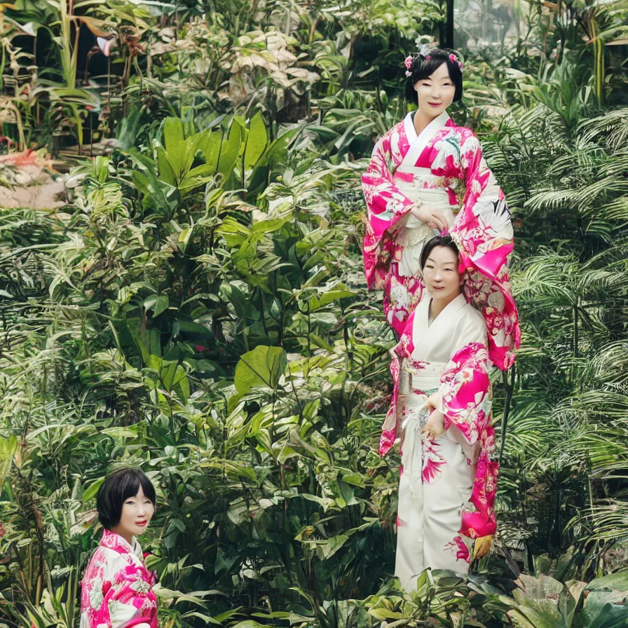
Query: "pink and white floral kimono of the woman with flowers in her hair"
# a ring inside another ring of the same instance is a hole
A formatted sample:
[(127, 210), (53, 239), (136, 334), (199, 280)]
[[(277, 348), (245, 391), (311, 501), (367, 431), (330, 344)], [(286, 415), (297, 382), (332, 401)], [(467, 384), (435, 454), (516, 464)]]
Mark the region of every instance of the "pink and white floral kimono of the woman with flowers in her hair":
[(507, 369), (519, 346), (519, 323), (508, 273), (513, 233), (503, 192), (472, 130), (444, 111), (416, 134), (411, 114), (375, 145), (362, 175), (367, 201), (364, 270), (371, 289), (384, 290), (386, 320), (401, 334), (421, 301), (419, 257), (437, 235), (410, 210), (441, 211), (466, 268), (467, 299), (484, 313), (489, 355)]

